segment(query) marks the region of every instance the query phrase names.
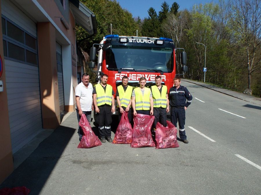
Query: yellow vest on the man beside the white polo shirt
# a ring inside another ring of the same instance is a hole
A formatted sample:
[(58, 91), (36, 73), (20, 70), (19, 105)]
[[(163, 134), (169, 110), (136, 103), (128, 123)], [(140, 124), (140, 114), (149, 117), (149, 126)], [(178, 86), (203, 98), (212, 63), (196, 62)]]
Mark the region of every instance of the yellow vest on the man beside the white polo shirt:
[(101, 84), (95, 85), (96, 89), (96, 101), (97, 101), (97, 106), (101, 106), (104, 104), (111, 105), (112, 101), (112, 86), (108, 85), (106, 86), (106, 92), (104, 92), (104, 88), (102, 87)]

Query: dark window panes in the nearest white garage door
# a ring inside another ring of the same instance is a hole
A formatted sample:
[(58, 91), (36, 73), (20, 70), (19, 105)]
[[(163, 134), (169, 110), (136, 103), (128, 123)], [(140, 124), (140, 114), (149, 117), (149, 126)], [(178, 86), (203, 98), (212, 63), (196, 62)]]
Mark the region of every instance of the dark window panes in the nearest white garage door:
[(2, 32), (6, 59), (38, 66), (36, 37), (6, 17), (2, 17)]

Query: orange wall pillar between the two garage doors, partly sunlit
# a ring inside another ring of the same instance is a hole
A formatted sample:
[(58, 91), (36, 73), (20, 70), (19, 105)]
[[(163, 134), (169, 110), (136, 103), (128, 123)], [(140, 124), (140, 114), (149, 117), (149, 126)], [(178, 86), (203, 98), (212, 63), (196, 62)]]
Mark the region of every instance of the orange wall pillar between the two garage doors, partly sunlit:
[(50, 22), (37, 23), (37, 39), (43, 128), (55, 129), (61, 123), (55, 27)]

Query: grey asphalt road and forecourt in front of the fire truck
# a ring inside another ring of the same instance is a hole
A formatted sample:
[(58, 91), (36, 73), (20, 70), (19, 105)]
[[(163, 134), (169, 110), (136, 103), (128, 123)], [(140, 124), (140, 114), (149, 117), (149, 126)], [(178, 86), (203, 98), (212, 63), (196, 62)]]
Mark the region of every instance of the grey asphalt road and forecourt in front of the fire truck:
[(189, 144), (155, 149), (106, 142), (79, 149), (74, 112), (0, 188), (26, 186), (31, 194), (261, 194), (261, 106), (181, 84), (193, 96), (186, 111)]

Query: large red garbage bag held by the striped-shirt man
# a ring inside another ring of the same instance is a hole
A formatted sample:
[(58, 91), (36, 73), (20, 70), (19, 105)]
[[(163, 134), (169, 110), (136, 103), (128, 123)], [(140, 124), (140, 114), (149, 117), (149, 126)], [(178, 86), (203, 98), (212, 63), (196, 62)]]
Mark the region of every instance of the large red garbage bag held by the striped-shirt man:
[(154, 121), (154, 116), (137, 114), (137, 116), (134, 116), (133, 121), (134, 125), (131, 147), (155, 147), (155, 143), (151, 135), (151, 126)]

